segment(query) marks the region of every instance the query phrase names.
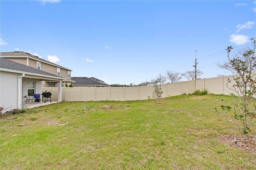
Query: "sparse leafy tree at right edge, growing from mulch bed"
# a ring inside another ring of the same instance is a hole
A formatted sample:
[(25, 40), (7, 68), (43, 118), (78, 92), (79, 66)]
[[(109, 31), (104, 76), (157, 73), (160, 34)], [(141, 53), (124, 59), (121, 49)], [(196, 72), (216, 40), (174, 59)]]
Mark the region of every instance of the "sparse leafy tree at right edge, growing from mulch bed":
[[(253, 43), (253, 49), (243, 49), (236, 53), (233, 58), (229, 56), (232, 46), (229, 46), (226, 51), (228, 53), (228, 61), (218, 66), (224, 69), (228, 69), (233, 73), (234, 83), (228, 79), (228, 84), (232, 83), (231, 87), (228, 87), (234, 93), (230, 93), (232, 97), (232, 105), (234, 106), (234, 123), (240, 134), (243, 136), (243, 142), (247, 142), (248, 133), (250, 127), (256, 123), (256, 57), (255, 48), (256, 42), (254, 38), (250, 39)], [(229, 112), (231, 107), (222, 105), (226, 120), (228, 121)], [(231, 118), (232, 118), (231, 117)], [(229, 121), (228, 121), (229, 122)]]

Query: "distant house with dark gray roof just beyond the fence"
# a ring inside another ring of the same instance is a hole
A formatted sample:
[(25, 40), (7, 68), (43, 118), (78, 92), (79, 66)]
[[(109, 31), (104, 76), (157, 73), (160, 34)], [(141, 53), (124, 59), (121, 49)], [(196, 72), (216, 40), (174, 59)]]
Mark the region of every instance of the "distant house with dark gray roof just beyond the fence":
[(74, 87), (108, 87), (109, 85), (106, 84), (104, 81), (96, 79), (94, 77), (71, 77), (73, 81)]

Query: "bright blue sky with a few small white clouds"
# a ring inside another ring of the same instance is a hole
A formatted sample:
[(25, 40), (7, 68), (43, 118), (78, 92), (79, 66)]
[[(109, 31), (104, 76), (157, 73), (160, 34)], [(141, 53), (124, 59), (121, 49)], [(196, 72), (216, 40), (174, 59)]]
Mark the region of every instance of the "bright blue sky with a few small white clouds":
[[(26, 51), (72, 77), (139, 84), (166, 70), (230, 75), (216, 63), (252, 47), (256, 1), (0, 1), (1, 52)], [(186, 81), (185, 78), (182, 81)]]

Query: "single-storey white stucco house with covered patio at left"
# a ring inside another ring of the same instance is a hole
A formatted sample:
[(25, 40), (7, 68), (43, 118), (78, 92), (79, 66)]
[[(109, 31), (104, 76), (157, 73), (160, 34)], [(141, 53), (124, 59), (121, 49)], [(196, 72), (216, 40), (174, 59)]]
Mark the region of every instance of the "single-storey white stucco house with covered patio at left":
[[(61, 101), (61, 82), (66, 80), (64, 77), (0, 57), (0, 106), (20, 109), (26, 103), (26, 95), (42, 93), (42, 81), (58, 82), (58, 101)], [(6, 111), (8, 110), (3, 112)]]

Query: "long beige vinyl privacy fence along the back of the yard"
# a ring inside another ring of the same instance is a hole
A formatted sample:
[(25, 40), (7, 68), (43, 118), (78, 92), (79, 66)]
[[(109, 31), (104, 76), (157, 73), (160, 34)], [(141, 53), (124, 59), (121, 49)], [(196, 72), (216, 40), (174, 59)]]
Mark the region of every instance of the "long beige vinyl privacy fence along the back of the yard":
[[(209, 93), (229, 95), (227, 80), (233, 76), (180, 81), (162, 84), (162, 97), (193, 93), (207, 89)], [(234, 80), (233, 80), (234, 82)], [(230, 85), (231, 86), (231, 85)], [(152, 99), (153, 86), (136, 87), (62, 87), (62, 101), (132, 101)], [(52, 93), (52, 101), (58, 101), (58, 87), (43, 87), (42, 92)]]

